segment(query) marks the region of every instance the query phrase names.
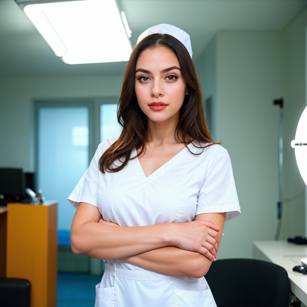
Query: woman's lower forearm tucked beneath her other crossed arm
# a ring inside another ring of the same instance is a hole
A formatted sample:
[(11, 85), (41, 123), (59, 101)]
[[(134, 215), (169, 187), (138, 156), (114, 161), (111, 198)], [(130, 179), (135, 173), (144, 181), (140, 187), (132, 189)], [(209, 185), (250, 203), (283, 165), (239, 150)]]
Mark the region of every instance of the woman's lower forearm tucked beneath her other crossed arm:
[(174, 246), (157, 248), (120, 260), (161, 274), (194, 278), (204, 276), (212, 263), (198, 252)]

